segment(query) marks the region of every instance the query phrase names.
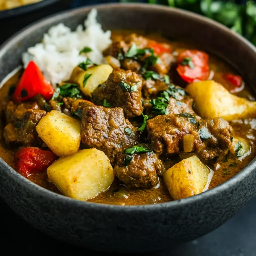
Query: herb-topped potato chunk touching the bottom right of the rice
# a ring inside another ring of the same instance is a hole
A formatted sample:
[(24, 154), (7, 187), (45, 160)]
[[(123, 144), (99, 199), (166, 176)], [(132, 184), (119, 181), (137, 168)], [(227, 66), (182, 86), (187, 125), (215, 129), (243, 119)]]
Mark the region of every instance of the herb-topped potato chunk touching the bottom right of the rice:
[[(104, 83), (108, 76), (112, 73), (113, 68), (108, 64), (102, 64), (95, 67), (88, 68), (86, 71), (79, 67), (75, 67), (70, 78), (70, 82), (78, 84), (80, 90), (91, 97), (91, 93), (98, 87), (99, 84)], [(85, 76), (91, 75), (85, 86)]]

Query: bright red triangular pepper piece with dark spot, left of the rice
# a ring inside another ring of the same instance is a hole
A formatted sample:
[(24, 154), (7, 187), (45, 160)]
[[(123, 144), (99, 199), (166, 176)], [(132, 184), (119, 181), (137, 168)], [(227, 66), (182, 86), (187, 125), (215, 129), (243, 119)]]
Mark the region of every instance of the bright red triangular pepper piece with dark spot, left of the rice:
[(48, 82), (35, 62), (30, 61), (14, 91), (14, 102), (28, 100), (37, 94), (42, 94), (46, 100), (50, 100), (54, 89)]

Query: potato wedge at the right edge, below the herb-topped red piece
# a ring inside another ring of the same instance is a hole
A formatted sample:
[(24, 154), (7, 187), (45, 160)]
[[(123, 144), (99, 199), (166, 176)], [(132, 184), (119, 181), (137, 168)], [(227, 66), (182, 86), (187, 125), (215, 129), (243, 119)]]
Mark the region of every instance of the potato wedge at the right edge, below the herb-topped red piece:
[(189, 84), (186, 91), (195, 100), (195, 110), (202, 118), (232, 121), (256, 117), (256, 102), (233, 95), (214, 81)]

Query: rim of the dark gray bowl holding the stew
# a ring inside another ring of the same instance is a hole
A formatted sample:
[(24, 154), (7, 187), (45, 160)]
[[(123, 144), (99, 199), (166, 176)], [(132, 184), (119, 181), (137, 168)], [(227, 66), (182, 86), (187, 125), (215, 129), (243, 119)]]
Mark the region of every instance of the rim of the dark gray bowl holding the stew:
[[(239, 39), (239, 41), (244, 44), (247, 49), (250, 51), (254, 52), (256, 54), (256, 48), (254, 45), (252, 45), (249, 41), (247, 41), (244, 37), (241, 35), (233, 32), (229, 28), (225, 27), (224, 25), (211, 20), (209, 18), (206, 18), (202, 15), (195, 14), (190, 11), (178, 9), (178, 8), (172, 8), (168, 6), (163, 6), (163, 5), (150, 5), (146, 3), (107, 3), (107, 4), (97, 4), (97, 5), (89, 5), (86, 7), (79, 7), (79, 8), (74, 8), (71, 10), (66, 10), (62, 11), (53, 15), (50, 15), (48, 17), (45, 17), (43, 19), (40, 19), (36, 22), (33, 22), (32, 24), (26, 26), (25, 28), (21, 29), (17, 33), (15, 33), (13, 36), (11, 36), (9, 39), (7, 39), (1, 46), (0, 46), (0, 58), (5, 54), (5, 52), (8, 50), (8, 45), (9, 43), (17, 43), (21, 38), (24, 38), (27, 36), (30, 32), (33, 32), (35, 29), (40, 28), (41, 25), (45, 24), (51, 24), (54, 21), (61, 20), (61, 18), (65, 15), (65, 17), (70, 17), (72, 18), (75, 16), (77, 13), (81, 12), (89, 12), (92, 8), (96, 9), (105, 9), (105, 8), (116, 8), (116, 9), (126, 9), (126, 10), (132, 10), (133, 8), (141, 8), (144, 10), (152, 10), (152, 9), (157, 9), (162, 12), (167, 12), (169, 14), (172, 13), (178, 13), (183, 16), (188, 16), (190, 18), (194, 18), (197, 20), (201, 20), (207, 25), (214, 26), (215, 28), (218, 28), (222, 30), (225, 33), (232, 34), (234, 39)], [(130, 205), (130, 206), (122, 206), (122, 205), (110, 205), (110, 204), (101, 204), (101, 203), (93, 203), (93, 202), (86, 202), (86, 201), (80, 201), (77, 199), (73, 199), (70, 197), (66, 197), (64, 195), (57, 194), (55, 192), (52, 192), (46, 188), (43, 188), (19, 173), (17, 173), (11, 166), (9, 166), (2, 158), (0, 158), (0, 169), (2, 169), (10, 179), (14, 180), (21, 186), (25, 186), (27, 189), (29, 189), (32, 193), (37, 194), (38, 196), (44, 196), (48, 197), (49, 199), (53, 201), (57, 201), (58, 203), (62, 204), (71, 204), (74, 206), (78, 206), (84, 209), (97, 209), (97, 210), (110, 210), (110, 211), (122, 211), (124, 213), (129, 213), (129, 212), (142, 212), (145, 210), (149, 211), (159, 211), (162, 208), (179, 208), (181, 206), (186, 206), (193, 204), (195, 201), (200, 201), (200, 200), (207, 200), (208, 198), (212, 198), (216, 196), (217, 194), (227, 190), (231, 189), (232, 187), (235, 187), (238, 182), (241, 182), (243, 179), (247, 177), (252, 171), (256, 169), (256, 157), (244, 168), (242, 169), (238, 174), (230, 178), (229, 180), (225, 181), (224, 183), (207, 190), (201, 194), (194, 195), (188, 198), (180, 199), (180, 200), (174, 200), (174, 201), (169, 201), (165, 203), (159, 203), (159, 204), (149, 204), (149, 205)]]

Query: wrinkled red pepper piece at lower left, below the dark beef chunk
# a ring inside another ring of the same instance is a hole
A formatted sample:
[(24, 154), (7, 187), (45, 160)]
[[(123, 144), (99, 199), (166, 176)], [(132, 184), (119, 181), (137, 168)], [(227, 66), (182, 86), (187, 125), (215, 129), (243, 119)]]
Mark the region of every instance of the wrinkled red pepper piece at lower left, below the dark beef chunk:
[(19, 149), (15, 153), (14, 162), (18, 173), (28, 177), (32, 173), (46, 170), (57, 158), (51, 151), (28, 147)]

